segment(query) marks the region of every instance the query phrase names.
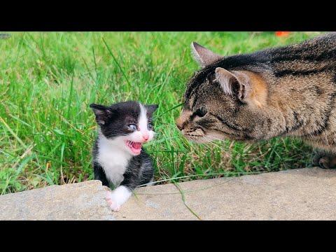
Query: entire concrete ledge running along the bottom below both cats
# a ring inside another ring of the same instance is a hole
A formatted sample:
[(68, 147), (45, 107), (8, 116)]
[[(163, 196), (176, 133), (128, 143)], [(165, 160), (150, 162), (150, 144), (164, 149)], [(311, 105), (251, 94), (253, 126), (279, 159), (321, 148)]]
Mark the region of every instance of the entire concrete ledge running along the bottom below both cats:
[(0, 196), (0, 220), (336, 220), (336, 170), (306, 168), (139, 188), (118, 213), (100, 181)]

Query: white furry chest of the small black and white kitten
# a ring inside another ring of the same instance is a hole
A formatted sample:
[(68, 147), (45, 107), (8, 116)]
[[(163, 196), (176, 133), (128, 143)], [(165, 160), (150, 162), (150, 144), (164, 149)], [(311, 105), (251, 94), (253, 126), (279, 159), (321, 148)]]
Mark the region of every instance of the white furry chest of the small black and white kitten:
[[(120, 143), (123, 144), (123, 143)], [(126, 153), (123, 148), (120, 149), (118, 143), (100, 138), (98, 142), (99, 152), (97, 161), (102, 165), (106, 178), (118, 186), (123, 181), (126, 167), (130, 161), (131, 155)]]

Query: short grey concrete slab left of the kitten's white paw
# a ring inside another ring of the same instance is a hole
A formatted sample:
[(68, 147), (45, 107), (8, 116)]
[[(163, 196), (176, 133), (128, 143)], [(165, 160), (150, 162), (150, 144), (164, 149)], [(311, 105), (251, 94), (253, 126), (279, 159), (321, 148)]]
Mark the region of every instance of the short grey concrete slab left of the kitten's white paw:
[(28, 190), (0, 196), (1, 220), (114, 220), (100, 181)]

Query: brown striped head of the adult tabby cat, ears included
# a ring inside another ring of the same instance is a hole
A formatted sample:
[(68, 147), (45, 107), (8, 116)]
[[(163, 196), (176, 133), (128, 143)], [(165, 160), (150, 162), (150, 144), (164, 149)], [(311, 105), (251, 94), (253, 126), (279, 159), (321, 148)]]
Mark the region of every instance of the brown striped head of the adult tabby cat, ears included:
[(263, 80), (249, 71), (224, 69), (224, 57), (197, 43), (192, 49), (202, 69), (188, 83), (179, 130), (197, 142), (259, 139), (258, 111), (267, 98)]

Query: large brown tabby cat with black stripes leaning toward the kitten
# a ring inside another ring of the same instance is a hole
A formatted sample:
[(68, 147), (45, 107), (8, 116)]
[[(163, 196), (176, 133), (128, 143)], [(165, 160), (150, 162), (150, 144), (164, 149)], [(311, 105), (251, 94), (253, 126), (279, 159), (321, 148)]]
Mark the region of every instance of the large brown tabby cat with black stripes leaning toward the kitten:
[(314, 165), (336, 165), (336, 33), (297, 45), (221, 57), (192, 44), (202, 69), (176, 125), (192, 141), (300, 137)]

